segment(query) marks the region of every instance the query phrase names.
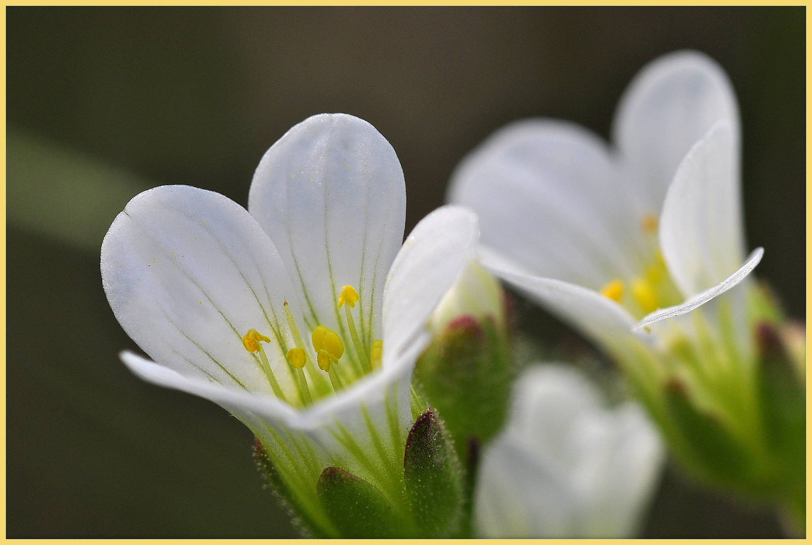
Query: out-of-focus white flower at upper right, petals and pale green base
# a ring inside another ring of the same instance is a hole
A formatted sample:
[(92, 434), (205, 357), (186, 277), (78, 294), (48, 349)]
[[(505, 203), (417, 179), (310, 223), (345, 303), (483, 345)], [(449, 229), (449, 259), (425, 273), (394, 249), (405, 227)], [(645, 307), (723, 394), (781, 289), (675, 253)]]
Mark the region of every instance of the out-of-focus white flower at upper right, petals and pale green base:
[[(660, 423), (672, 377), (732, 423), (741, 406), (719, 395), (731, 381), (744, 412), (758, 401), (748, 283), (731, 289), (763, 251), (744, 258), (726, 75), (695, 52), (655, 60), (620, 101), (613, 139), (616, 151), (567, 122), (516, 122), (462, 162), (451, 201), (479, 216), (482, 264), (614, 354)], [(673, 350), (685, 342), (697, 349), (689, 358)], [(749, 433), (746, 419), (734, 435)]]

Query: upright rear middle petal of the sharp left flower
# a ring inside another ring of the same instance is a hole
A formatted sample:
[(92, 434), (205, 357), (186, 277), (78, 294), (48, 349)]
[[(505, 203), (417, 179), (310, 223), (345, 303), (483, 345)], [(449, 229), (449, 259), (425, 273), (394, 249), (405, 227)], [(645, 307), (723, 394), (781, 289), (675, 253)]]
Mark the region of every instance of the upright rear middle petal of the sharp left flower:
[(305, 119), (262, 157), (248, 210), (279, 249), (309, 328), (346, 333), (337, 303), (352, 285), (362, 341), (380, 338), (383, 285), (406, 214), (403, 171), (387, 139), (351, 115)]

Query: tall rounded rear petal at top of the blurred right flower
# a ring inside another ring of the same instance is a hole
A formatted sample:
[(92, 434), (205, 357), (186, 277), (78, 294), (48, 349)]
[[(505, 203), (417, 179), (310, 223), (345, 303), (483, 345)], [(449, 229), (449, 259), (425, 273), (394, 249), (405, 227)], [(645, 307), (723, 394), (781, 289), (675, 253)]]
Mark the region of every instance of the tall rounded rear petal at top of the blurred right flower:
[(637, 186), (637, 215), (659, 216), (680, 161), (721, 118), (732, 122), (732, 164), (738, 169), (736, 95), (716, 62), (695, 51), (677, 51), (637, 74), (620, 100), (613, 126), (613, 139)]

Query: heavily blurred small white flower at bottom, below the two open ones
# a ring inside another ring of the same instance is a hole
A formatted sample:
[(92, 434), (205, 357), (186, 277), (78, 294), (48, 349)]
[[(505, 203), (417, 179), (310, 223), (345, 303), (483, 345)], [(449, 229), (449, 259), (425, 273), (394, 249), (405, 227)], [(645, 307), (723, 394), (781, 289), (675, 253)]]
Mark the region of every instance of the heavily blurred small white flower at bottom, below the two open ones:
[(628, 538), (663, 461), (637, 403), (609, 410), (573, 367), (529, 367), (508, 427), (482, 455), (474, 513), (484, 538)]

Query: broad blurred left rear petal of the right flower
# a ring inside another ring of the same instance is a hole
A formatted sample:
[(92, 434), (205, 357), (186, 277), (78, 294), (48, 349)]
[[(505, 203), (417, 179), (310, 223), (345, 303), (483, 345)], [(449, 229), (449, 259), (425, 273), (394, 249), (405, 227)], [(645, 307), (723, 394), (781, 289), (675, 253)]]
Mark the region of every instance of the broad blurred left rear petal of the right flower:
[(606, 144), (551, 119), (497, 131), (460, 163), (449, 191), (479, 215), (483, 243), (539, 276), (593, 289), (643, 263), (629, 199)]

